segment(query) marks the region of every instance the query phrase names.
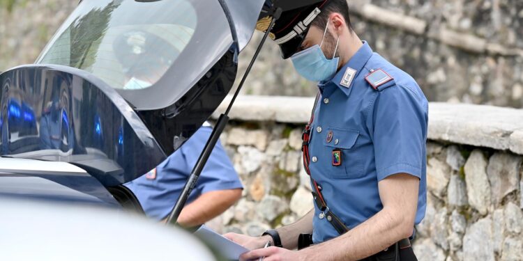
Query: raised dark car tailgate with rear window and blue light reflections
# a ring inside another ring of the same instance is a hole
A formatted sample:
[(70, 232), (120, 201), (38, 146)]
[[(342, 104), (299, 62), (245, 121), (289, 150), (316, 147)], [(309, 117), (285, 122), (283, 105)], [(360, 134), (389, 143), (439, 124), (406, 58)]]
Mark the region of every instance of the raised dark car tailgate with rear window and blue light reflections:
[(35, 64), (0, 74), (0, 155), (105, 186), (160, 164), (232, 88), (264, 0), (89, 0)]

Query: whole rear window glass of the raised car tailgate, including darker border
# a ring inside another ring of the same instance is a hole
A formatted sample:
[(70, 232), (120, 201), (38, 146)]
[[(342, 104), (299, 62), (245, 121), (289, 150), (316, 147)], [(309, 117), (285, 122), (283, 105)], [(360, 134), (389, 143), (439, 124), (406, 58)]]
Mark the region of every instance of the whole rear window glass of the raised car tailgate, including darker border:
[(89, 0), (36, 63), (90, 72), (137, 109), (158, 109), (176, 102), (232, 42), (216, 0)]

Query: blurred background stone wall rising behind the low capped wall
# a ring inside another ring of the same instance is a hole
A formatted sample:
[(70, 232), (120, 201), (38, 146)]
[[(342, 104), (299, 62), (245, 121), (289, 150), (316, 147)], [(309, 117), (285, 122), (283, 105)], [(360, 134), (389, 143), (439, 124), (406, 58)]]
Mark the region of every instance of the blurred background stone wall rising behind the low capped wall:
[[(356, 33), (412, 74), (430, 101), (523, 106), (523, 1), (348, 2)], [(0, 0), (0, 71), (32, 63), (76, 3)], [(241, 54), (239, 72), (260, 36)], [(313, 96), (314, 83), (279, 53), (269, 41), (243, 93)]]

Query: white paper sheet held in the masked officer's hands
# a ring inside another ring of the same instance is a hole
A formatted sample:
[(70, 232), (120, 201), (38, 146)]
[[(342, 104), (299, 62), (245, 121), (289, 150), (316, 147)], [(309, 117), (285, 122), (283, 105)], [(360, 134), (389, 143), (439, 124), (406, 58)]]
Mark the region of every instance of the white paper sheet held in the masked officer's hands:
[(215, 250), (220, 251), (220, 254), (227, 260), (238, 260), (241, 254), (249, 251), (247, 248), (232, 242), (205, 225), (196, 230), (195, 235), (203, 239)]

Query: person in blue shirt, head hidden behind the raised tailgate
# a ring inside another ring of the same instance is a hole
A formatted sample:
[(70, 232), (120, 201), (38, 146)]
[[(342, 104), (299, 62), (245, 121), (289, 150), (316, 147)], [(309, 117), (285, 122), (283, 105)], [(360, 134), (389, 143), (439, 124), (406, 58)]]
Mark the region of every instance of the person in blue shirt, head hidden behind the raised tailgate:
[[(158, 221), (167, 218), (211, 132), (211, 125), (205, 123), (158, 167), (125, 184), (135, 193), (147, 216)], [(222, 214), (241, 197), (242, 188), (218, 141), (179, 216), (179, 224), (193, 228)]]

